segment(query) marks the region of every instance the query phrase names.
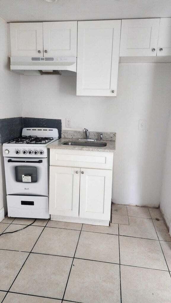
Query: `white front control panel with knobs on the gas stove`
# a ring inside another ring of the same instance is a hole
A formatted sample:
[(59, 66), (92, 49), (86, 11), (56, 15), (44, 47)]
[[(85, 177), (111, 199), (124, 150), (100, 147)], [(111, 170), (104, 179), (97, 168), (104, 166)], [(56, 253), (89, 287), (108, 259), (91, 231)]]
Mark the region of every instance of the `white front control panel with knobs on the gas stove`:
[(31, 147), (31, 146), (3, 146), (4, 157), (27, 157), (27, 158), (46, 158), (47, 157), (46, 147)]

